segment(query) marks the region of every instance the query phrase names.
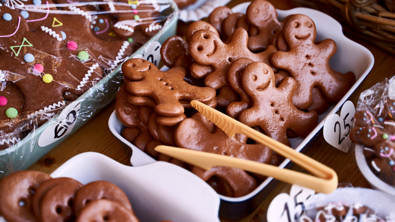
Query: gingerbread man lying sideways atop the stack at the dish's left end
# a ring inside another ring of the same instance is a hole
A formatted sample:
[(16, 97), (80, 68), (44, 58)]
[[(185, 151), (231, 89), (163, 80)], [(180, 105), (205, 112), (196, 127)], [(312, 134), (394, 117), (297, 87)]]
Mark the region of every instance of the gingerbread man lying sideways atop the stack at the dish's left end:
[(127, 84), (127, 90), (154, 99), (154, 110), (162, 116), (181, 116), (184, 107), (179, 100), (196, 99), (209, 103), (216, 95), (211, 87), (196, 87), (184, 82), (185, 70), (180, 67), (161, 71), (146, 60), (129, 59), (123, 64), (122, 71), (125, 78), (134, 80)]

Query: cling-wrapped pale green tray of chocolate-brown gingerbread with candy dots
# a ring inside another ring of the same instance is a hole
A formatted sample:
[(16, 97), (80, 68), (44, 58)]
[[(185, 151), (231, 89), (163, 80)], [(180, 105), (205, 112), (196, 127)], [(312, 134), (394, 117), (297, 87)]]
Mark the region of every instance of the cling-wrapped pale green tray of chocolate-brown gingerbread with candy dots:
[(3, 0), (0, 178), (108, 104), (123, 85), (120, 64), (160, 41), (177, 11), (170, 0)]

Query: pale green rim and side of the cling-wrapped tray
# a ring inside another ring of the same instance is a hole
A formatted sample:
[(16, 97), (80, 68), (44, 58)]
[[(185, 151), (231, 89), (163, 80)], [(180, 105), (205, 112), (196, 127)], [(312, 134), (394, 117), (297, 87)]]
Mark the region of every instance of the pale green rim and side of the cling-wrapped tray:
[[(130, 55), (129, 58), (136, 55), (142, 55), (147, 46), (152, 42), (156, 41), (162, 44), (170, 36), (175, 35), (178, 22), (178, 8), (173, 1), (167, 1), (166, 3), (169, 7), (165, 10), (169, 11), (170, 16), (167, 23), (159, 32), (152, 36), (149, 41)], [(78, 97), (63, 109), (71, 110), (71, 113), (69, 114), (73, 115), (70, 115), (69, 117), (73, 118), (73, 127), (62, 127), (59, 124), (59, 117), (61, 115), (67, 115), (67, 113), (65, 114), (62, 111), (9, 149), (0, 151), (0, 179), (17, 170), (27, 169), (34, 162), (50, 152), (55, 146), (60, 144), (64, 139), (89, 121), (101, 110), (101, 108), (110, 103), (115, 98), (115, 95), (122, 84), (123, 75), (121, 72), (121, 65), (118, 65), (95, 86), (91, 87), (82, 96)], [(72, 113), (74, 106), (78, 108), (79, 113)], [(55, 128), (58, 125), (59, 127)], [(46, 133), (48, 130), (52, 130), (53, 128), (59, 130), (59, 134), (62, 134), (62, 136), (55, 140), (53, 139), (50, 142), (42, 142), (44, 139), (48, 139), (46, 138), (48, 137)], [(42, 144), (45, 145), (39, 144), (39, 142), (42, 142)]]

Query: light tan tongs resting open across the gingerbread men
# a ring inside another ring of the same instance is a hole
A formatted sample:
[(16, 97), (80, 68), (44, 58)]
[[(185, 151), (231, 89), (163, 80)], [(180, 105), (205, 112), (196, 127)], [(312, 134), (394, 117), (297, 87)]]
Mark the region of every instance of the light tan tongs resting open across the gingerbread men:
[(192, 100), (190, 104), (229, 136), (233, 137), (236, 133), (244, 134), (266, 145), (280, 155), (289, 158), (315, 176), (255, 161), (167, 145), (156, 146), (155, 151), (205, 170), (210, 170), (213, 166), (236, 167), (249, 172), (270, 176), (291, 184), (297, 184), (319, 193), (329, 194), (336, 190), (338, 178), (333, 169), (304, 154), (296, 152), (291, 147), (254, 130), (208, 105), (196, 100)]

